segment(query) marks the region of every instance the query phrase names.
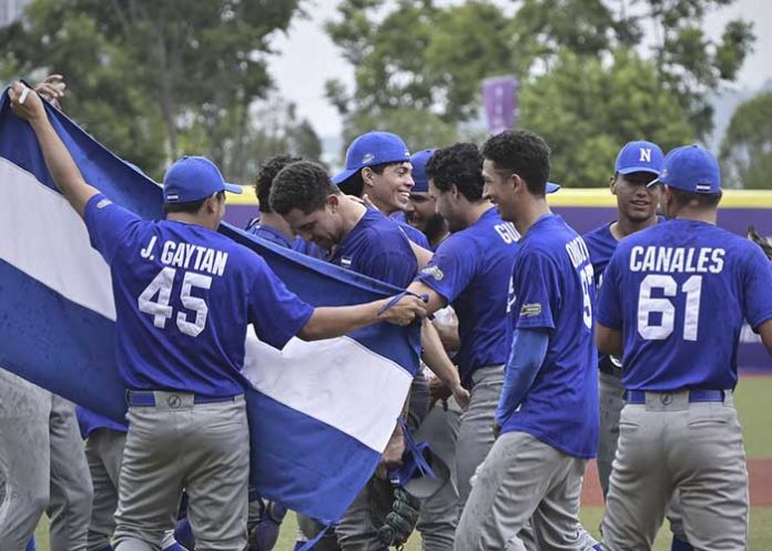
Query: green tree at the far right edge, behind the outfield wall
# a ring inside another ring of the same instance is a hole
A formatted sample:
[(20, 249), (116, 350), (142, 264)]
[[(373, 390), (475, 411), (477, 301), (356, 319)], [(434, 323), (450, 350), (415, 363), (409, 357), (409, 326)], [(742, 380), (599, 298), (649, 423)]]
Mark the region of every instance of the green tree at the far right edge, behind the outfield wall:
[(742, 103), (721, 143), (727, 187), (772, 190), (772, 92)]

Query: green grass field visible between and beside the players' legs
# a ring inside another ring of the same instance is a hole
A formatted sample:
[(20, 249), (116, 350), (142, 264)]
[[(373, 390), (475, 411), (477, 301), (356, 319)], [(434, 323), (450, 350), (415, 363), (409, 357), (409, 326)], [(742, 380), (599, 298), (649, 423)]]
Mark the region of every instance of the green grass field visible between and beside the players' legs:
[[(745, 377), (741, 379), (737, 392), (737, 404), (743, 425), (749, 459), (772, 458), (772, 430), (769, 426), (770, 411), (772, 411), (770, 397), (772, 397), (772, 377)], [(766, 473), (766, 478), (772, 480), (772, 472)], [(581, 511), (582, 524), (596, 537), (598, 537), (598, 524), (602, 512), (601, 507), (586, 507)], [(295, 542), (295, 518), (294, 514), (288, 514), (282, 526), (280, 542), (275, 550), (291, 551)], [(38, 527), (35, 538), (38, 550), (49, 551), (47, 519), (43, 519)], [(414, 534), (405, 549), (406, 551), (419, 551), (420, 539)], [(670, 534), (667, 528), (660, 531), (653, 549), (654, 551), (670, 549)], [(772, 550), (772, 507), (753, 507), (751, 509), (749, 551), (769, 550)]]

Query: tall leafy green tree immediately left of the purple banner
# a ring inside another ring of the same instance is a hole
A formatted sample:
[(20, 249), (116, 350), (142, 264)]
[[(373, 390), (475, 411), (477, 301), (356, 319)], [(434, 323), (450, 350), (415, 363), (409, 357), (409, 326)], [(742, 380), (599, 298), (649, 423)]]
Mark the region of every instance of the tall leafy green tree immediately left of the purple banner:
[(400, 0), (379, 17), (382, 0), (344, 0), (326, 30), (355, 67), (355, 90), (327, 82), (345, 119), (344, 137), (386, 127), (412, 147), (457, 139), (459, 122), (477, 115), (479, 83), (514, 67), (508, 19), (486, 1), (437, 8)]

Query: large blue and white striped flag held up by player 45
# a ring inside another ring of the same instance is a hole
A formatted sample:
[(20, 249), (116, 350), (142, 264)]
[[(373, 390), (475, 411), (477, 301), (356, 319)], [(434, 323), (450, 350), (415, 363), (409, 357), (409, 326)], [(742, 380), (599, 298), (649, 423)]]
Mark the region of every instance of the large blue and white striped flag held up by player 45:
[[(161, 188), (47, 105), (87, 182), (146, 218)], [(108, 265), (57, 190), (32, 129), (0, 99), (0, 366), (123, 420)], [(397, 289), (223, 224), (290, 289), (318, 306), (358, 304)], [(270, 313), (267, 313), (270, 315)], [(415, 325), (415, 324), (414, 324)], [(418, 366), (418, 329), (388, 324), (284, 350), (250, 328), (244, 373), (252, 480), (264, 498), (323, 521), (341, 517), (374, 471)]]

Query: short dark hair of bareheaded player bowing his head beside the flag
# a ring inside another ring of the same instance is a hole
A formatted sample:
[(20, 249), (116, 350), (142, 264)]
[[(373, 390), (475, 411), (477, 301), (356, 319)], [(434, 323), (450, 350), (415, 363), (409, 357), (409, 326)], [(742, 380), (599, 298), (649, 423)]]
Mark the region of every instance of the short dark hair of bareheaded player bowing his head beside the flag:
[(273, 180), (271, 208), (285, 215), (293, 208), (305, 214), (322, 208), (328, 195), (341, 193), (329, 180), (324, 166), (298, 161), (282, 169)]

